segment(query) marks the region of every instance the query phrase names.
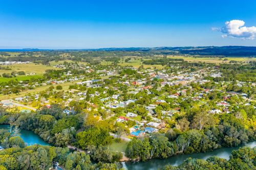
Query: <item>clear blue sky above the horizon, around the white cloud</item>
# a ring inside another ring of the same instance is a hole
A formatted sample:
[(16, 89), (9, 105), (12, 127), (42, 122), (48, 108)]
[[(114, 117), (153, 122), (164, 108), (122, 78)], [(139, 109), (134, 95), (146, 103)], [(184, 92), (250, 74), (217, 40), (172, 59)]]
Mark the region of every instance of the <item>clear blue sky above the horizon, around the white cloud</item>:
[[(256, 46), (255, 8), (254, 0), (3, 0), (0, 48)], [(232, 32), (231, 20), (247, 31)]]

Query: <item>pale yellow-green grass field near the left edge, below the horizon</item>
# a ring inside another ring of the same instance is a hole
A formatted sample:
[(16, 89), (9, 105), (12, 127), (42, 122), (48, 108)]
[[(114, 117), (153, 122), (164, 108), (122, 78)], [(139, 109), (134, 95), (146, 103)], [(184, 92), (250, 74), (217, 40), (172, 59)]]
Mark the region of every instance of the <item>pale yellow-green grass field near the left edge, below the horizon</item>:
[(0, 69), (0, 74), (2, 75), (4, 72), (11, 73), (12, 71), (25, 71), (26, 74), (34, 72), (37, 75), (42, 75), (47, 69), (59, 69), (59, 68), (54, 68), (53, 66), (34, 64), (34, 63), (14, 64), (14, 65), (8, 65), (8, 67), (11, 68), (11, 70)]

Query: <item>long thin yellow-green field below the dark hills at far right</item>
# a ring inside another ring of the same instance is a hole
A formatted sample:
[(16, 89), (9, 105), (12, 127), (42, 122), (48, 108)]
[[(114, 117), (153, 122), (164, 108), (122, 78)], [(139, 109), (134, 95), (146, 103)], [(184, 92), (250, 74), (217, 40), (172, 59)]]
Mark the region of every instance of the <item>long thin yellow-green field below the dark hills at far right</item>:
[[(188, 62), (206, 62), (206, 63), (229, 63), (229, 61), (241, 61), (241, 62), (248, 62), (248, 61), (256, 61), (256, 58), (249, 58), (249, 57), (185, 57), (185, 56), (168, 56), (168, 58), (177, 58), (177, 59), (184, 59)], [(227, 61), (224, 61), (227, 59)]]

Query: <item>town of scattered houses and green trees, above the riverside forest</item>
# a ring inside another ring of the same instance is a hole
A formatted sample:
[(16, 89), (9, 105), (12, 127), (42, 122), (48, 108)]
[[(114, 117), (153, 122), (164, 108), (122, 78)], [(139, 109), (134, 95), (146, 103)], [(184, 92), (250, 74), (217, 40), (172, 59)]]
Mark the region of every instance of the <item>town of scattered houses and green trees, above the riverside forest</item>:
[[(63, 113), (67, 115), (75, 115), (81, 110), (93, 112), (94, 117), (99, 120), (115, 118), (116, 123), (124, 126), (125, 133), (122, 135), (128, 139), (157, 131), (166, 132), (172, 127), (177, 116), (184, 114), (185, 102), (193, 104), (194, 107), (207, 105), (208, 114), (233, 112), (234, 108), (231, 105), (234, 104), (255, 107), (253, 100), (249, 97), (252, 94), (248, 93), (255, 87), (254, 82), (236, 81), (235, 84), (225, 81), (213, 82), (214, 78), (222, 78), (222, 73), (217, 66), (198, 67), (195, 70), (194, 67), (194, 69), (182, 68), (179, 64), (154, 69), (154, 66), (97, 68), (87, 64), (66, 63), (66, 65), (58, 64), (54, 67), (68, 71), (61, 71), (61, 76), (58, 78), (53, 77), (54, 79), (50, 78), (40, 83), (34, 82), (33, 85), (20, 81), (18, 86), (26, 88), (27, 86), (58, 85), (56, 90), (50, 86), (51, 92), (47, 89), (13, 98), (13, 102), (9, 100), (2, 102), (3, 107), (10, 108), (16, 106), (15, 103), (19, 103), (40, 109), (44, 106), (50, 108), (52, 104), (59, 104), (63, 108)], [(75, 73), (79, 71), (82, 74)], [(82, 81), (87, 78), (91, 80)], [(61, 84), (74, 81), (79, 82), (61, 91)], [(226, 90), (228, 86), (232, 86), (230, 90)], [(209, 103), (212, 100), (215, 102)], [(21, 111), (29, 112), (30, 110)]]

